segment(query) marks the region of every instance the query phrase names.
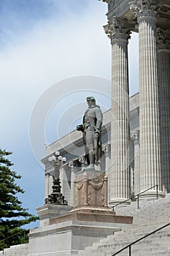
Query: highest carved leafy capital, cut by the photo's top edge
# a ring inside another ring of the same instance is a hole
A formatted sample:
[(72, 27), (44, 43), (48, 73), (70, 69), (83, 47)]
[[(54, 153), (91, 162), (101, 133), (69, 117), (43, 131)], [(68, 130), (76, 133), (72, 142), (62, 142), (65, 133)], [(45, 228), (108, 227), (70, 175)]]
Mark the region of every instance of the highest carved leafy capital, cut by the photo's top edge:
[(162, 3), (159, 0), (136, 0), (134, 4), (131, 4), (131, 11), (134, 12), (138, 18), (138, 21), (144, 17), (156, 17), (156, 10), (161, 7)]

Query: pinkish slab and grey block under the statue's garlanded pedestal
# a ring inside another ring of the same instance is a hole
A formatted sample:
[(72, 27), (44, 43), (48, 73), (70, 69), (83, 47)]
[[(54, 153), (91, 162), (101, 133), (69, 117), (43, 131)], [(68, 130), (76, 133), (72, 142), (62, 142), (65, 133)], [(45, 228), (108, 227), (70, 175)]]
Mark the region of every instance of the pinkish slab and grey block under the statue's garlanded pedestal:
[(31, 230), (28, 256), (76, 255), (86, 246), (128, 226), (132, 219), (117, 216), (107, 207), (76, 208), (66, 215), (50, 219), (49, 225)]

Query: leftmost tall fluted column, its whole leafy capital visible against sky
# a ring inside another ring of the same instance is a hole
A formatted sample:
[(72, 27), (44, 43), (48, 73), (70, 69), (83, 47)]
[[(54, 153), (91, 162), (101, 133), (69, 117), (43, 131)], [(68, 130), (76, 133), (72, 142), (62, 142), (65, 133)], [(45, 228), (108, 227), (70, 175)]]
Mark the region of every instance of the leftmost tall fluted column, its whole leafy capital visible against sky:
[(126, 20), (112, 17), (104, 26), (112, 43), (112, 108), (110, 205), (129, 197), (129, 94), (128, 39), (131, 26)]

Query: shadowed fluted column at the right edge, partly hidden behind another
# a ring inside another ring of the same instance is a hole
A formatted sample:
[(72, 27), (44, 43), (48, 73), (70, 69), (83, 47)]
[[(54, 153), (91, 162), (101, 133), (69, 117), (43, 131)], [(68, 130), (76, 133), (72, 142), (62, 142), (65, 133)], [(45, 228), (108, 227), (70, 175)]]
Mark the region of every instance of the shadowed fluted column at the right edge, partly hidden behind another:
[(170, 192), (170, 30), (157, 29), (158, 85), (161, 121), (161, 178)]

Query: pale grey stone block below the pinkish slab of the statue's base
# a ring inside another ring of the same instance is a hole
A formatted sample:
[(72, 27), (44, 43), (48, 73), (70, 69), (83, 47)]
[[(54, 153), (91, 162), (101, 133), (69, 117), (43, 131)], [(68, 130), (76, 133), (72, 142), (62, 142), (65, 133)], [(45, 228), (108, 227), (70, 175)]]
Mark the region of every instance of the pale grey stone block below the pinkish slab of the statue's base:
[[(75, 216), (76, 214), (70, 217), (72, 220), (68, 220), (66, 216), (63, 219), (58, 217), (52, 220), (54, 224), (31, 230), (28, 256), (77, 255), (77, 252), (100, 238), (121, 230), (120, 223), (88, 221), (85, 215), (83, 220), (80, 214), (77, 214), (77, 218)], [(90, 214), (90, 217), (93, 215)]]

